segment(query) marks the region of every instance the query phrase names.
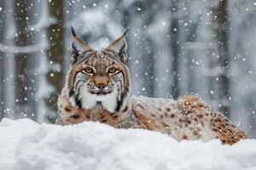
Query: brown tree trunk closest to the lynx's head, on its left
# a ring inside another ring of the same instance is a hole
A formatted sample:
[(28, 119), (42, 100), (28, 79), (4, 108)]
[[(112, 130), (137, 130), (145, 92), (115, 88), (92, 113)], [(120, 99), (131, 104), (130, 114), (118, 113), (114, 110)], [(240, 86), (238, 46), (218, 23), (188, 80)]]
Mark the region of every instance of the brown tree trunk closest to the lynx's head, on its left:
[[(47, 74), (47, 81), (49, 85), (54, 88), (54, 91), (46, 99), (49, 109), (53, 112), (57, 111), (58, 94), (61, 93), (64, 82), (64, 2), (62, 0), (55, 0), (49, 3), (49, 14), (55, 23), (48, 28), (49, 37), (49, 72)], [(50, 116), (50, 121), (54, 121), (55, 116)]]

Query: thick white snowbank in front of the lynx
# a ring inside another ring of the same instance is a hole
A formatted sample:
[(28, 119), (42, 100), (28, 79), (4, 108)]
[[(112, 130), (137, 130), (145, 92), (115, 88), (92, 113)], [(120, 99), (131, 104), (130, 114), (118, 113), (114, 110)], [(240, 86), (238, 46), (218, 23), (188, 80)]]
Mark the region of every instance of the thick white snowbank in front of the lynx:
[(73, 126), (29, 119), (0, 123), (1, 169), (256, 169), (256, 140), (183, 141), (97, 122)]

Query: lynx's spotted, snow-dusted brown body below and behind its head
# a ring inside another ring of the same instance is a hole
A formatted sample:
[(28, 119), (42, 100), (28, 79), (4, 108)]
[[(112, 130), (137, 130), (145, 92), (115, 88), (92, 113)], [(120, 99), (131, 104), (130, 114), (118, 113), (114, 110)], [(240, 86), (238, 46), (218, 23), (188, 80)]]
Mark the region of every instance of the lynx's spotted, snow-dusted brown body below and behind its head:
[[(213, 139), (220, 139), (223, 144), (234, 144), (240, 139), (247, 139), (244, 132), (218, 112), (212, 112), (201, 99), (195, 96), (183, 96), (176, 103), (161, 110), (159, 108), (152, 109), (152, 105), (158, 105), (157, 99), (132, 98), (132, 113), (130, 116), (125, 116), (125, 113), (122, 112), (111, 114), (102, 109), (93, 113), (91, 110), (76, 109), (65, 95), (62, 93), (58, 103), (65, 124), (96, 121), (112, 127), (143, 128), (166, 133), (178, 140), (208, 140), (203, 137), (205, 128), (212, 133)], [(68, 108), (70, 111), (66, 111), (64, 108)], [(79, 115), (79, 118), (74, 118), (74, 115)]]

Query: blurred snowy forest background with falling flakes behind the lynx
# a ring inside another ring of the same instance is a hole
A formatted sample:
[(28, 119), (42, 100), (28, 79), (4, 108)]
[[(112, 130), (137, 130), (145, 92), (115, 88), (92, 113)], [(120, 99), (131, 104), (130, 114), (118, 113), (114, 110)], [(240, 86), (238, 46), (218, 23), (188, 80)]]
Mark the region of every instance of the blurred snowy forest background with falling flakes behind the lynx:
[(255, 0), (0, 0), (0, 120), (53, 122), (70, 26), (102, 48), (126, 27), (132, 91), (196, 94), (256, 137)]

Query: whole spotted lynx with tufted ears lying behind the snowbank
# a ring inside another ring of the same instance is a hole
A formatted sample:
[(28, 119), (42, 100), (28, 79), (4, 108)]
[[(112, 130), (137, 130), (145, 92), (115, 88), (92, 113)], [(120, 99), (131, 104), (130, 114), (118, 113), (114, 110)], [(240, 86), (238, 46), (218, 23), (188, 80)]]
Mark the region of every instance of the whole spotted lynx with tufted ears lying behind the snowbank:
[(177, 140), (220, 139), (234, 144), (247, 136), (230, 120), (195, 96), (153, 99), (131, 96), (124, 34), (95, 50), (73, 31), (71, 65), (58, 100), (59, 123), (84, 121), (117, 128), (143, 128)]

